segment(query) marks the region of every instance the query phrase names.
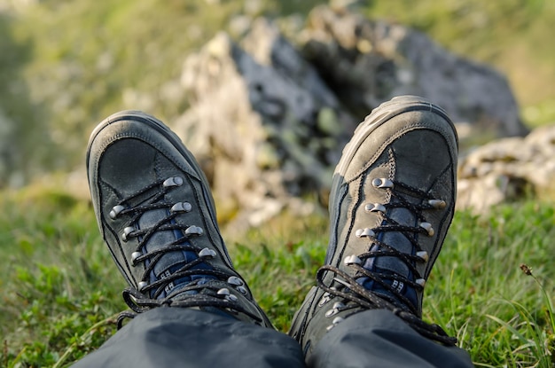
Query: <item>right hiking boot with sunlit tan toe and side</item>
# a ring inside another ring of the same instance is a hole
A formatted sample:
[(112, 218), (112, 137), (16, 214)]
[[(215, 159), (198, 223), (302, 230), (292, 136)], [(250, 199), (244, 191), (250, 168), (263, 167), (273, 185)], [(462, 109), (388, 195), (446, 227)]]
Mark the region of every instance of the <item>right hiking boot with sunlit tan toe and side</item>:
[(333, 175), (325, 264), (293, 318), (307, 358), (324, 333), (367, 309), (390, 309), (418, 333), (455, 343), (420, 317), (456, 177), (455, 127), (426, 99), (394, 98), (358, 126)]

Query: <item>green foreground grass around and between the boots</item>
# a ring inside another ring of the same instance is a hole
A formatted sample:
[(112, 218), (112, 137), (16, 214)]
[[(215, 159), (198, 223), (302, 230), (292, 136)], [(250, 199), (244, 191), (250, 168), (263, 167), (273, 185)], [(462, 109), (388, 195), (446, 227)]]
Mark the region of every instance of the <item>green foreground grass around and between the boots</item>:
[[(126, 307), (90, 203), (30, 187), (2, 192), (0, 214), (0, 365), (66, 366), (98, 348)], [(553, 366), (554, 223), (551, 204), (534, 201), (488, 216), (457, 212), (424, 317), (456, 335), (476, 366)], [(309, 290), (326, 242), (322, 215), (283, 215), (231, 240), (236, 267), (279, 330)]]

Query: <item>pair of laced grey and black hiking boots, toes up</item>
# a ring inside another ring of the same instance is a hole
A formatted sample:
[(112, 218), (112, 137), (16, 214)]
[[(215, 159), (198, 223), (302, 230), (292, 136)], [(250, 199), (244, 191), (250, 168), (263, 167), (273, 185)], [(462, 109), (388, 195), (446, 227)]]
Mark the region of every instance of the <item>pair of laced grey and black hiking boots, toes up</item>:
[[(99, 229), (129, 284), (133, 312), (121, 317), (167, 306), (273, 328), (233, 267), (206, 176), (161, 121), (138, 111), (108, 117), (91, 134), (87, 169)], [(367, 309), (392, 310), (418, 333), (454, 343), (421, 309), (456, 173), (454, 125), (424, 98), (394, 98), (358, 126), (333, 175), (317, 286), (293, 317), (290, 334), (305, 354)]]

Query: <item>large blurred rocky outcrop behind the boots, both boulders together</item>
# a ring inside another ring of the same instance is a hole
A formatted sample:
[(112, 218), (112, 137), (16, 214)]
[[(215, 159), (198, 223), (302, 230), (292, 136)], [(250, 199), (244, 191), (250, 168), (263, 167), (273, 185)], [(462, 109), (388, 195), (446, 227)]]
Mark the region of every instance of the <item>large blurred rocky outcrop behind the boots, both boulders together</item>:
[(501, 74), (407, 27), (321, 7), (300, 35), (304, 46), (293, 46), (256, 20), (240, 42), (217, 35), (184, 62), (191, 108), (172, 128), (207, 172), (223, 219), (238, 226), (284, 207), (309, 210), (302, 199), (314, 193), (325, 202), (357, 122), (396, 95), (431, 98), (460, 131), (526, 131)]

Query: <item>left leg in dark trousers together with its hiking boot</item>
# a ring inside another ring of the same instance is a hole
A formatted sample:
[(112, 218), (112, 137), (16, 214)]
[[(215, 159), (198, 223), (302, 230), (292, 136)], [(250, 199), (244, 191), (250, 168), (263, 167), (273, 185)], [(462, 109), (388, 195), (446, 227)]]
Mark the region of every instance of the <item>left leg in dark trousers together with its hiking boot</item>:
[(113, 114), (90, 137), (87, 168), (99, 230), (129, 284), (125, 316), (140, 315), (78, 366), (303, 365), (233, 268), (207, 179), (161, 121)]

